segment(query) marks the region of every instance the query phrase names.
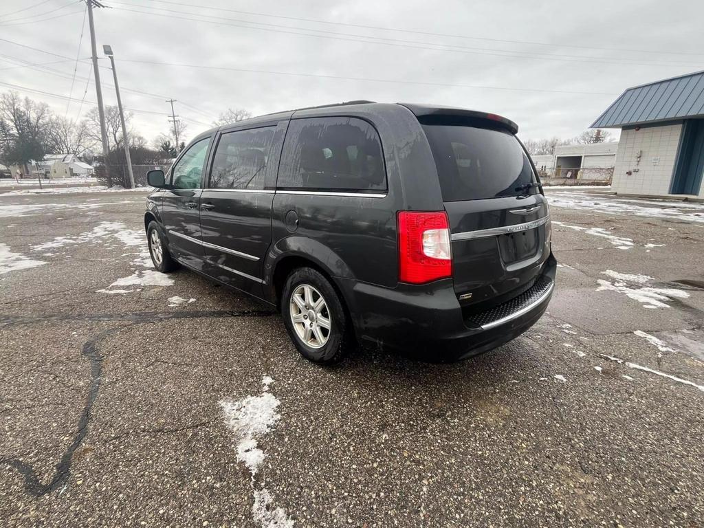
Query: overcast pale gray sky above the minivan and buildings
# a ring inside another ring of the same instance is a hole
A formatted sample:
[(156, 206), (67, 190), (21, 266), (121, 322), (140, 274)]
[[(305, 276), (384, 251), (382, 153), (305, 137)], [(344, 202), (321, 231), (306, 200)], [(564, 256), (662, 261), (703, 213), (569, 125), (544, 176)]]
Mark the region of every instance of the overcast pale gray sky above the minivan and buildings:
[[(170, 98), (188, 137), (228, 107), (256, 115), (351, 99), (461, 106), (515, 120), (522, 139), (572, 137), (625, 88), (704, 69), (701, 1), (103, 4), (99, 56), (112, 45), (122, 102), (149, 142), (170, 130)], [(84, 11), (80, 0), (2, 0), (0, 91), (23, 87), (76, 118), (88, 87), (81, 113), (92, 108)], [(99, 62), (103, 98), (115, 104), (109, 62)]]

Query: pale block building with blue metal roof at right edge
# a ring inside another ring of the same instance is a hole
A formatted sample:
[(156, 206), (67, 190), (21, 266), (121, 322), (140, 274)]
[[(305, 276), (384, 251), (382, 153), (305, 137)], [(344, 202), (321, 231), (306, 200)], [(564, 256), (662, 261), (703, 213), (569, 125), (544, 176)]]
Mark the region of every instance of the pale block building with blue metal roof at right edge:
[(704, 72), (629, 88), (591, 127), (621, 129), (612, 191), (704, 198)]

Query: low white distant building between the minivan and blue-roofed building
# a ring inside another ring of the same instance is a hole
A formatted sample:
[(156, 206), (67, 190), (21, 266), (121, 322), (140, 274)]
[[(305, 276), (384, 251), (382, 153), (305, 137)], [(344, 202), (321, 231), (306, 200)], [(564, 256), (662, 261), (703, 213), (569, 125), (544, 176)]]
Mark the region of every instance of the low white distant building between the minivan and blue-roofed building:
[(609, 181), (618, 145), (618, 142), (559, 145), (554, 154), (537, 154), (531, 158), (543, 177)]

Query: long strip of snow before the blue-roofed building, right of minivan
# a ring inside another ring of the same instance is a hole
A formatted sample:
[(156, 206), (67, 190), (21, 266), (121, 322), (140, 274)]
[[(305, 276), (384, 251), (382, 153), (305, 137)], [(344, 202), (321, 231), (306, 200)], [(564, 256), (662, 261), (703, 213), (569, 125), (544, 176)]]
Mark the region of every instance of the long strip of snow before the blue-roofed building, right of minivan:
[(700, 203), (672, 200), (629, 200), (574, 191), (557, 191), (548, 193), (547, 197), (551, 207), (584, 209), (610, 215), (635, 215), (704, 223), (704, 205)]

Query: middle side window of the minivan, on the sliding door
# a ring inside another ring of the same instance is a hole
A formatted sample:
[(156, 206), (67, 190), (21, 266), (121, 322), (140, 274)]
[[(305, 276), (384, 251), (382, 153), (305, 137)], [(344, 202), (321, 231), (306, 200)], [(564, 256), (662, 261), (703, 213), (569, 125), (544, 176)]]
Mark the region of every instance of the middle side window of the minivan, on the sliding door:
[(275, 130), (263, 127), (222, 134), (210, 171), (210, 188), (263, 189)]

